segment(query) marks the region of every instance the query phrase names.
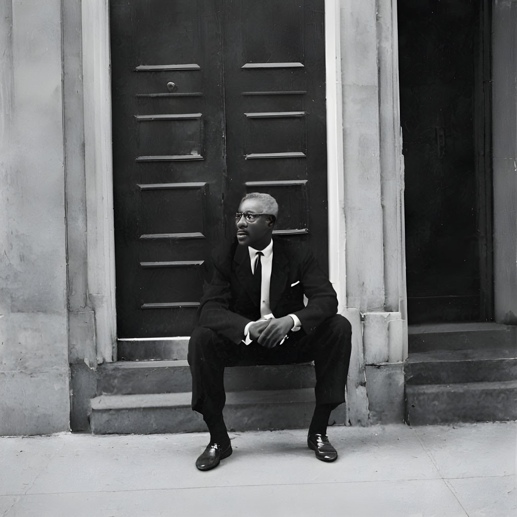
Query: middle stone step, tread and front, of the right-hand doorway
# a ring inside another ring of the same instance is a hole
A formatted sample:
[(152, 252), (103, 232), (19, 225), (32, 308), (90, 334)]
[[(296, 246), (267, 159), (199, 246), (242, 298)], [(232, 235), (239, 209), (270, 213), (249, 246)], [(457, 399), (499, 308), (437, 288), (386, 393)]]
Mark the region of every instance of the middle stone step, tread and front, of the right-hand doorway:
[(409, 354), (406, 385), (517, 380), (517, 349), (477, 348)]

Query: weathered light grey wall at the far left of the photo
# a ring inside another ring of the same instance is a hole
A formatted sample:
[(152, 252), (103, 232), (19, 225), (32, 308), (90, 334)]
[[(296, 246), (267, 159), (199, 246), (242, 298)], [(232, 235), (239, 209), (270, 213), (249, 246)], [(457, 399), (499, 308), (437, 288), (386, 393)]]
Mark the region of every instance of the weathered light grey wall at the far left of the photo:
[(69, 429), (61, 2), (0, 4), (0, 435)]

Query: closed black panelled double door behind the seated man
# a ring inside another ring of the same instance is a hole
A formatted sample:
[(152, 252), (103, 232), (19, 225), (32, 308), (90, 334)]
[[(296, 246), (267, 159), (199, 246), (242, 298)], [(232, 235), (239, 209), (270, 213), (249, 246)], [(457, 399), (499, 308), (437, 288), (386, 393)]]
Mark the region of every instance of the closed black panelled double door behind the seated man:
[(190, 333), (246, 191), (326, 267), (323, 5), (110, 3), (119, 338)]

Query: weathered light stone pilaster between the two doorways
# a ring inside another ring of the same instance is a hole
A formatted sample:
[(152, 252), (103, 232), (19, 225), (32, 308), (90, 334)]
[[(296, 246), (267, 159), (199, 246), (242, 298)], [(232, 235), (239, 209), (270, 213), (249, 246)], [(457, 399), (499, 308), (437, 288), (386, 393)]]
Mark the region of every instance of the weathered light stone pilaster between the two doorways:
[(355, 336), (348, 414), (352, 424), (363, 425), (403, 419), (407, 322), (397, 4), (340, 0), (340, 6), (345, 315)]

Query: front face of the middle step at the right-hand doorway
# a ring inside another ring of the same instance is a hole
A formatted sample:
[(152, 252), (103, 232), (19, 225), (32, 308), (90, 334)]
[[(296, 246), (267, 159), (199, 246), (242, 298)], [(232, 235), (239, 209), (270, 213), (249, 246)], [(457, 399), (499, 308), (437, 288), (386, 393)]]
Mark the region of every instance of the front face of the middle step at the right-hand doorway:
[(406, 363), (406, 385), (514, 381), (517, 359)]

